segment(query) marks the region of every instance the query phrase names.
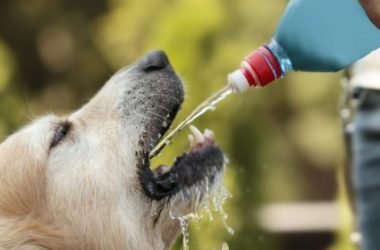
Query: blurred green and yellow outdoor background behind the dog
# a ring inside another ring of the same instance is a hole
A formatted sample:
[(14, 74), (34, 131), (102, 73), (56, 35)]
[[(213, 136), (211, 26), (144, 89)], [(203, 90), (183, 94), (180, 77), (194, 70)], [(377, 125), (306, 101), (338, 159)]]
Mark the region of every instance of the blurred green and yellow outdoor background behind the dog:
[[(36, 116), (78, 108), (115, 71), (155, 48), (167, 52), (185, 82), (178, 123), (225, 85), (245, 55), (271, 39), (286, 3), (1, 0), (0, 136)], [(218, 216), (204, 219), (190, 228), (190, 249), (221, 249), (223, 242), (239, 250), (351, 249), (341, 177), (341, 76), (289, 73), (264, 89), (230, 96), (195, 122), (214, 130), (230, 159), (225, 183), (232, 198), (225, 210), (235, 234)], [(170, 162), (187, 147), (183, 133), (156, 161)], [(280, 216), (289, 219), (282, 228), (276, 213), (263, 220), (268, 207), (292, 204), (332, 204), (324, 216), (332, 216), (331, 225), (292, 230), (319, 216), (318, 209), (292, 206)], [(175, 249), (180, 246), (181, 239)]]

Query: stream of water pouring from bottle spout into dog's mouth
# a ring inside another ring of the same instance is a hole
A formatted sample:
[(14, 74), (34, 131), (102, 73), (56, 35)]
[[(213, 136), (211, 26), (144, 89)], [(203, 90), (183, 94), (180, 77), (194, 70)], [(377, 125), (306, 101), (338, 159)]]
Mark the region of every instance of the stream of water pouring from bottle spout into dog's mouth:
[(215, 105), (221, 100), (230, 95), (233, 90), (227, 86), (215, 92), (201, 104), (199, 104), (176, 128), (174, 128), (164, 139), (162, 139), (156, 147), (150, 152), (149, 158), (152, 159), (158, 155), (166, 146), (171, 144), (172, 139), (180, 133), (186, 126), (192, 123), (195, 119), (205, 114), (207, 111), (214, 111)]

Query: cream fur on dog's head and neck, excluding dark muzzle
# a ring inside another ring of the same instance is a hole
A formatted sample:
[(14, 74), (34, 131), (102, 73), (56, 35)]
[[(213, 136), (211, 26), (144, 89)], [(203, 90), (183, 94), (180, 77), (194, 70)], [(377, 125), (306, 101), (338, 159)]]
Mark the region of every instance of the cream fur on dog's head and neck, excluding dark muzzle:
[[(163, 204), (144, 196), (137, 178), (136, 150), (146, 114), (120, 115), (123, 98), (131, 98), (125, 93), (135, 86), (128, 83), (133, 77), (128, 70), (118, 73), (77, 112), (39, 118), (0, 145), (1, 250), (172, 245), (178, 221), (164, 208), (154, 225), (153, 215)], [(50, 148), (57, 126), (66, 121), (69, 134)]]

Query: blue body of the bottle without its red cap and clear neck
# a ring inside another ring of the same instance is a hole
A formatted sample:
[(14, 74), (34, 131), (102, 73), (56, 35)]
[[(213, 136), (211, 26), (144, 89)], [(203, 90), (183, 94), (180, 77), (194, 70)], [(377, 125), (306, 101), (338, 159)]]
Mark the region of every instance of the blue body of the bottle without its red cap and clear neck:
[(341, 70), (380, 47), (380, 30), (358, 0), (291, 0), (274, 39), (294, 70)]

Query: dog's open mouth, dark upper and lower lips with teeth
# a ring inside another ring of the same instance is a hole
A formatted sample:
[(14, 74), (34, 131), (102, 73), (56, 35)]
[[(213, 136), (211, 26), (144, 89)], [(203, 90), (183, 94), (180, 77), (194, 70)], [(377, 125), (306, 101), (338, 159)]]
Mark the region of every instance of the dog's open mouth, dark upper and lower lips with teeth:
[[(176, 85), (182, 90), (182, 83), (179, 79), (176, 81)], [(179, 95), (183, 95), (183, 93), (179, 93)], [(144, 140), (150, 143), (147, 150), (144, 150), (141, 155), (139, 176), (144, 193), (153, 200), (170, 198), (178, 193), (181, 193), (182, 196), (187, 195), (189, 197), (185, 198), (191, 199), (191, 190), (194, 187), (198, 189), (199, 187), (212, 187), (224, 166), (224, 155), (221, 149), (215, 145), (213, 132), (205, 130), (204, 133), (201, 133), (196, 127), (191, 126), (190, 149), (178, 156), (172, 166), (159, 165), (155, 170), (151, 170), (149, 153), (159, 142), (158, 138), (161, 138), (169, 130), (182, 104), (183, 98), (176, 97), (181, 101), (168, 104), (165, 109), (168, 110), (170, 107), (170, 112), (167, 115), (160, 114), (162, 118), (158, 121), (156, 116), (154, 121), (147, 125), (150, 131), (149, 135), (144, 135)], [(200, 192), (206, 191), (200, 190)]]

